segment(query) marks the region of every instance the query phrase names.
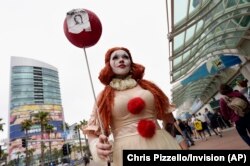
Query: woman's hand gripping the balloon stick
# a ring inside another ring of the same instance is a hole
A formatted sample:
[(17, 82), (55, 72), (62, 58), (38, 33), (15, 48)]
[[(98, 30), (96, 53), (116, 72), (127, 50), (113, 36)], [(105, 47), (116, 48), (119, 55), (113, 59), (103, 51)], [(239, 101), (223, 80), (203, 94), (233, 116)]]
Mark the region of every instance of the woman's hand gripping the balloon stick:
[(108, 137), (105, 135), (99, 136), (99, 141), (96, 144), (97, 154), (101, 159), (109, 160), (109, 155), (112, 153), (112, 145), (108, 141)]

